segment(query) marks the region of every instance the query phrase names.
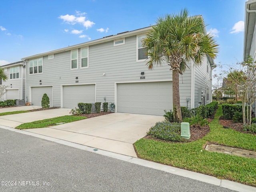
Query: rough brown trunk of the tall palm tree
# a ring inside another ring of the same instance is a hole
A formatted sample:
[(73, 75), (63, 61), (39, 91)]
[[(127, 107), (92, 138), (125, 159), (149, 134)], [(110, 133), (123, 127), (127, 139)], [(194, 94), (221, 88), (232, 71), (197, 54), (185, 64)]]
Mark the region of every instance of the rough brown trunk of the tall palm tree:
[(182, 122), (180, 109), (180, 82), (178, 70), (172, 70), (172, 103), (174, 122)]

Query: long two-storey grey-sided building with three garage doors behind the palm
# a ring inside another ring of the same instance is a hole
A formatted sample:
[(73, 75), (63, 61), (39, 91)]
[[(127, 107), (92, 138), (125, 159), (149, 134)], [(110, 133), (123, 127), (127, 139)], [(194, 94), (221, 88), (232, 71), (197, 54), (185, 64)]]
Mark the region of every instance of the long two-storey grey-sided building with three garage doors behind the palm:
[[(162, 115), (172, 109), (172, 71), (167, 64), (148, 70), (140, 40), (152, 27), (23, 58), (26, 60), (26, 98), (41, 105), (47, 93), (50, 106), (75, 108), (78, 102), (114, 102), (116, 112)], [(180, 76), (181, 106), (198, 107), (212, 101), (212, 67), (202, 66)], [(205, 93), (201, 99), (201, 90)]]

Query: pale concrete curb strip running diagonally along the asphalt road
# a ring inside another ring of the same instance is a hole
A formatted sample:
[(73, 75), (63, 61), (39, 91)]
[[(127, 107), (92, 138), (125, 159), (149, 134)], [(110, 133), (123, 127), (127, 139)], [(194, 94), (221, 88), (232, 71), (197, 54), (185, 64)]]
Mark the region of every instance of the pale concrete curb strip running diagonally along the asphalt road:
[(244, 184), (233, 182), (233, 181), (230, 181), (230, 180), (218, 179), (214, 176), (209, 176), (209, 175), (205, 175), (205, 174), (201, 174), (201, 173), (197, 173), (197, 172), (192, 172), (192, 171), (189, 171), (189, 170), (184, 170), (184, 169), (180, 169), (180, 168), (176, 168), (176, 167), (172, 167), (172, 166), (168, 166), (168, 165), (164, 165), (164, 164), (159, 164), (159, 163), (156, 163), (156, 162), (151, 162), (151, 161), (143, 160), (143, 159), (140, 159), (140, 158), (135, 158), (135, 157), (130, 157), (130, 156), (122, 155), (122, 154), (117, 154), (117, 153), (114, 153), (114, 152), (109, 152), (109, 151), (105, 151), (105, 150), (101, 150), (101, 149), (96, 149), (96, 148), (92, 148), (92, 147), (89, 147), (89, 146), (85, 146), (85, 145), (81, 145), (81, 144), (77, 144), (77, 143), (73, 143), (73, 142), (69, 142), (69, 141), (65, 141), (65, 140), (61, 140), (61, 139), (57, 139), (57, 138), (53, 138), (53, 137), (49, 137), (49, 136), (44, 136), (44, 135), (28, 132), (26, 130), (17, 130), (17, 129), (10, 128), (10, 127), (7, 127), (7, 126), (0, 126), (0, 128), (10, 130), (10, 131), (14, 131), (14, 132), (18, 132), (18, 133), (21, 133), (21, 134), (34, 136), (34, 137), (41, 138), (41, 139), (44, 139), (44, 140), (49, 140), (49, 141), (56, 142), (56, 143), (59, 143), (59, 144), (63, 144), (63, 145), (66, 145), (66, 146), (70, 146), (70, 147), (73, 147), (73, 148), (78, 148), (78, 149), (81, 149), (81, 150), (94, 152), (96, 154), (108, 156), (108, 157), (111, 157), (111, 158), (115, 158), (115, 159), (118, 159), (118, 160), (130, 162), (130, 163), (141, 165), (141, 166), (144, 166), (144, 167), (153, 168), (153, 169), (156, 169), (156, 170), (161, 170), (161, 171), (164, 171), (164, 172), (168, 172), (168, 173), (171, 173), (171, 174), (183, 176), (183, 177), (186, 177), (186, 178), (191, 178), (191, 179), (194, 179), (194, 180), (198, 180), (198, 181), (205, 182), (205, 183), (208, 183), (208, 184), (213, 184), (213, 185), (216, 185), (216, 186), (220, 186), (220, 187), (227, 188), (227, 189), (230, 189), (230, 190), (235, 190), (235, 191), (238, 191), (238, 192), (255, 192), (256, 191), (256, 187), (244, 185)]

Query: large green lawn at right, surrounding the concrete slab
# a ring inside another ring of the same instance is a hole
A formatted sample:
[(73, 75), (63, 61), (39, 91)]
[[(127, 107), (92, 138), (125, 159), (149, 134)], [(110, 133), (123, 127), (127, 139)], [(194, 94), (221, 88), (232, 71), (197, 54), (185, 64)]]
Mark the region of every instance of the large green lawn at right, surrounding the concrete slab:
[(214, 143), (256, 151), (256, 136), (222, 128), (218, 124), (221, 115), (222, 107), (219, 106), (214, 120), (209, 124), (210, 133), (195, 142), (140, 139), (134, 146), (142, 159), (256, 186), (256, 159), (204, 150), (206, 144)]

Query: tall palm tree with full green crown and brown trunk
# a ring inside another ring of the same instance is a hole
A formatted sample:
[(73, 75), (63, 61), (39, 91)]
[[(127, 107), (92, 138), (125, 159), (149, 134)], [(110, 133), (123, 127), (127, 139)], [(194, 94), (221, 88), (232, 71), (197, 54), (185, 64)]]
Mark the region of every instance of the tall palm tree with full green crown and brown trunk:
[(172, 70), (174, 121), (182, 122), (180, 110), (179, 74), (186, 70), (186, 62), (193, 60), (202, 64), (206, 54), (215, 58), (218, 44), (210, 34), (206, 34), (202, 16), (188, 17), (188, 10), (180, 14), (167, 14), (158, 18), (156, 25), (142, 40), (146, 54), (149, 56), (147, 66), (161, 66), (166, 63)]

